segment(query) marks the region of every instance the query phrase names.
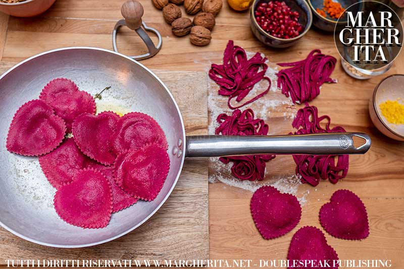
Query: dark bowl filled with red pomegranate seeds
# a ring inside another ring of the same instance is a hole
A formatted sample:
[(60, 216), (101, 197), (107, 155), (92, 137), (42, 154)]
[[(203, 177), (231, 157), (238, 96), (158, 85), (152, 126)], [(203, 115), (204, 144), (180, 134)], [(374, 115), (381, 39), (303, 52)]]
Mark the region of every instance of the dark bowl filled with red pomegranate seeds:
[(255, 0), (251, 7), (251, 29), (271, 47), (288, 47), (304, 36), (313, 15), (305, 0)]

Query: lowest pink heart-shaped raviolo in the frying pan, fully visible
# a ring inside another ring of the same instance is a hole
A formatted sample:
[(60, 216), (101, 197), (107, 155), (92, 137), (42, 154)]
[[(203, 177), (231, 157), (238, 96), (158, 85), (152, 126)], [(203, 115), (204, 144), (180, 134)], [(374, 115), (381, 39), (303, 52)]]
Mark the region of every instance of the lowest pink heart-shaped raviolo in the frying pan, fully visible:
[(112, 189), (105, 176), (96, 170), (81, 170), (72, 182), (55, 194), (54, 205), (65, 222), (82, 228), (103, 228), (112, 213)]

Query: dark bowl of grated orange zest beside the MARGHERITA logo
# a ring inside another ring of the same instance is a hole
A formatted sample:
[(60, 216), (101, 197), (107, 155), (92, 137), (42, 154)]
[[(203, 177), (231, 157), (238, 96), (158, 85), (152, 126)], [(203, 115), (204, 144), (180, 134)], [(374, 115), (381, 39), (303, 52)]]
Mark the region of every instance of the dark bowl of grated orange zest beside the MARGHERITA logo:
[[(333, 32), (336, 25), (346, 22), (343, 17), (337, 22), (346, 8), (356, 3), (362, 3), (357, 0), (309, 0), (308, 2), (313, 12), (313, 25), (327, 32)], [(363, 4), (356, 5), (356, 7), (360, 11), (363, 9)]]

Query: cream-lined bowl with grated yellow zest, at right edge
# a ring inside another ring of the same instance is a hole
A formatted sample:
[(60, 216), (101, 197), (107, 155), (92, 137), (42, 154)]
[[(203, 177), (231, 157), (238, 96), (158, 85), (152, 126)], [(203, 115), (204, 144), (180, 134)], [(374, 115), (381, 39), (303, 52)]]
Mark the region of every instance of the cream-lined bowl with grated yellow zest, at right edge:
[(380, 132), (404, 141), (404, 75), (388, 76), (376, 86), (369, 113)]

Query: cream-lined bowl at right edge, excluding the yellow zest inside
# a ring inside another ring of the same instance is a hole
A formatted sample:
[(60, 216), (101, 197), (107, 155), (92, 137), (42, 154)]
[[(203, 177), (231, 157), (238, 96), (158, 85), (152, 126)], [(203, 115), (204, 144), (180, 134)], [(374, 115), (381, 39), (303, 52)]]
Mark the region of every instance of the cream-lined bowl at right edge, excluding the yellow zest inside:
[(380, 111), (380, 103), (386, 100), (401, 98), (404, 100), (404, 75), (391, 75), (380, 81), (369, 100), (369, 114), (373, 124), (384, 135), (404, 141), (404, 124), (394, 125), (389, 123)]

